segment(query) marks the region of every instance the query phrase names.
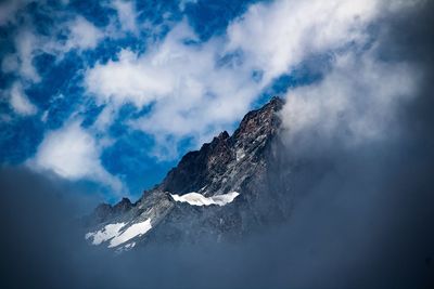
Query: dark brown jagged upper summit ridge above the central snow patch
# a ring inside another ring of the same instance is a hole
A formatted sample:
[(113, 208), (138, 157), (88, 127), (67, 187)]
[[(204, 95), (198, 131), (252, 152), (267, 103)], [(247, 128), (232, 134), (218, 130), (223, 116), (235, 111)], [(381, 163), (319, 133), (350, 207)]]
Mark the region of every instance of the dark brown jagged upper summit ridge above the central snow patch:
[(227, 170), (229, 163), (237, 161), (241, 150), (252, 152), (254, 147), (265, 146), (280, 126), (276, 113), (283, 104), (282, 98), (272, 97), (261, 108), (245, 115), (232, 136), (224, 131), (200, 150), (184, 155), (158, 188), (182, 194), (197, 192), (209, 184), (210, 180)]

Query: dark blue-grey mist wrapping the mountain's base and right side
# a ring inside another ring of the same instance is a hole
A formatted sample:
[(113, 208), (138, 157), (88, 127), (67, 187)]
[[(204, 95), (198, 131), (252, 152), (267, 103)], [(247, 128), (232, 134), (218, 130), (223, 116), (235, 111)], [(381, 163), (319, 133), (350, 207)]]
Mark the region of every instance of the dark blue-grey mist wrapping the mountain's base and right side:
[[(79, 194), (64, 182), (25, 168), (2, 168), (2, 287), (431, 288), (433, 8), (425, 3), (378, 24), (369, 57), (406, 64), (417, 86), (410, 98), (381, 107), (379, 116), (390, 117), (369, 123), (379, 128), (375, 137), (360, 140), (345, 127), (367, 116), (357, 109), (327, 134), (327, 114), (303, 124), (296, 137), (290, 122), (281, 136), (294, 194), (291, 216), (246, 239), (204, 237), (117, 255), (84, 238), (79, 216), (94, 199), (74, 197)], [(284, 121), (291, 119), (288, 105)]]

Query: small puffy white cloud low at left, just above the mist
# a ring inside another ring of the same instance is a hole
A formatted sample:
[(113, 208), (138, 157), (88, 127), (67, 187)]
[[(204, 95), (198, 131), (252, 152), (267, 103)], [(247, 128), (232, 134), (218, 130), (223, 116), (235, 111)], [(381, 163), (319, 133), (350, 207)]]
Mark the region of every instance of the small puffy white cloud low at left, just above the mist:
[(101, 165), (101, 148), (79, 121), (73, 121), (48, 132), (28, 165), (35, 169), (50, 170), (68, 180), (101, 182), (119, 192), (123, 189), (120, 181)]

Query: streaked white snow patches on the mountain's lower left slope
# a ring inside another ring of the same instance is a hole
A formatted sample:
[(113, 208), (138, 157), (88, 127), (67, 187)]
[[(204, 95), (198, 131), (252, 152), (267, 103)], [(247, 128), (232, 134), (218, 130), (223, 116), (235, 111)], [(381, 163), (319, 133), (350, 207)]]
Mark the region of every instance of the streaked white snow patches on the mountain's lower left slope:
[(86, 234), (85, 238), (93, 238), (93, 245), (100, 245), (101, 242), (110, 240), (108, 248), (113, 248), (135, 237), (141, 236), (152, 228), (151, 219), (148, 219), (144, 222), (132, 224), (120, 232), (124, 226), (125, 223), (108, 224), (100, 231)]

